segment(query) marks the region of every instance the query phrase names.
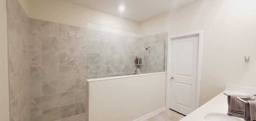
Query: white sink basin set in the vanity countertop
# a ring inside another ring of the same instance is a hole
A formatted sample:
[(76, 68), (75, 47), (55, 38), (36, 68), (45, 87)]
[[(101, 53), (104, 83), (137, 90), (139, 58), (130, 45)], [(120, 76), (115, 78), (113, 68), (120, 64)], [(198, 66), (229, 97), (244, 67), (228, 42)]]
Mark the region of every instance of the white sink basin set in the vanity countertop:
[(205, 121), (244, 121), (242, 118), (231, 117), (224, 113), (208, 113), (204, 119)]

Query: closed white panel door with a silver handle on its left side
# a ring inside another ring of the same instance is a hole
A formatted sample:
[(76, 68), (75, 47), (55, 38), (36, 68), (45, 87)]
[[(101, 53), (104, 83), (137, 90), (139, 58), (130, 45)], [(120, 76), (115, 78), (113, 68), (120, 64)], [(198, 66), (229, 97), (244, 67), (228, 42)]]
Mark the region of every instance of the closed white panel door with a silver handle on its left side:
[(199, 36), (172, 39), (170, 109), (188, 115), (196, 109)]

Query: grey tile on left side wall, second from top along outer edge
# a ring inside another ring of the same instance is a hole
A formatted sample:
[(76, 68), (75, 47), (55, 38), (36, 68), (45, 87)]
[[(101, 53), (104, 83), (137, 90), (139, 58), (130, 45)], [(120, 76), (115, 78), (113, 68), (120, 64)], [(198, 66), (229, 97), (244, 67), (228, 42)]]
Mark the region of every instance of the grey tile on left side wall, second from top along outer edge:
[[(12, 1), (12, 0), (9, 0)], [(8, 16), (8, 44), (16, 46), (17, 45), (17, 23)]]

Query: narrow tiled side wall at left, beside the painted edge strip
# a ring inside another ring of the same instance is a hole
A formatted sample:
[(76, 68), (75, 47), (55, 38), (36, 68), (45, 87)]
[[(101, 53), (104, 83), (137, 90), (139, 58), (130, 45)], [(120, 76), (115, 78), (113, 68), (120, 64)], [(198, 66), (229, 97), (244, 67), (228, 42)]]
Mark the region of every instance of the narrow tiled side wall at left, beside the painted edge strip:
[(29, 120), (28, 16), (17, 0), (7, 0), (10, 121)]

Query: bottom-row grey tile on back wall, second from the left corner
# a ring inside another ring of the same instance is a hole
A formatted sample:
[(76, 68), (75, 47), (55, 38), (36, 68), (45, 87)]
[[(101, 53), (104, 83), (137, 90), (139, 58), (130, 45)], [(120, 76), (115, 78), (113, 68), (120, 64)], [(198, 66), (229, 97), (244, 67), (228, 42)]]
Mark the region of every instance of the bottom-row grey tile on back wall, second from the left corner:
[(42, 111), (42, 121), (54, 121), (60, 119), (60, 107)]

